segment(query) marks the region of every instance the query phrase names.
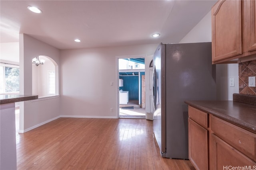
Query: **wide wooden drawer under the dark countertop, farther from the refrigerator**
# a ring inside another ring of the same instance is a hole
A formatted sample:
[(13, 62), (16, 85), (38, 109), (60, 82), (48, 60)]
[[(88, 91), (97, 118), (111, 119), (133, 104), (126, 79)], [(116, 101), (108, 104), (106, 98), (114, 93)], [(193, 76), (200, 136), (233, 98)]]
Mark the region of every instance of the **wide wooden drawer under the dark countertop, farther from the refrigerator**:
[(212, 115), (211, 129), (214, 134), (226, 141), (249, 158), (256, 160), (255, 138), (256, 134), (251, 133), (232, 123), (228, 123)]

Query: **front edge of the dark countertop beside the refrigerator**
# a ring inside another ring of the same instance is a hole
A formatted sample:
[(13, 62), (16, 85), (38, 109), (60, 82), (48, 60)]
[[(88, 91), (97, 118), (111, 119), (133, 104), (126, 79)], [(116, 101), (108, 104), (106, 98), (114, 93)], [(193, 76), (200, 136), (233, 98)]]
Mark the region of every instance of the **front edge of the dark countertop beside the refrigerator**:
[[(235, 102), (235, 101), (232, 101), (232, 102)], [(224, 114), (219, 113), (219, 112), (212, 111), (209, 108), (204, 107), (202, 105), (194, 104), (192, 101), (185, 101), (185, 103), (192, 106), (192, 107), (195, 107), (196, 109), (200, 109), (201, 111), (210, 113), (210, 114), (212, 114), (216, 117), (219, 117), (219, 118), (221, 118), (225, 121), (228, 121), (230, 123), (238, 125), (238, 126), (244, 128), (244, 129), (252, 131), (253, 133), (256, 133), (256, 125), (253, 125), (253, 124), (245, 122), (245, 121), (241, 122), (241, 120), (239, 120), (239, 119), (236, 119), (232, 116), (224, 115)], [(248, 104), (248, 105), (250, 105), (250, 104)]]

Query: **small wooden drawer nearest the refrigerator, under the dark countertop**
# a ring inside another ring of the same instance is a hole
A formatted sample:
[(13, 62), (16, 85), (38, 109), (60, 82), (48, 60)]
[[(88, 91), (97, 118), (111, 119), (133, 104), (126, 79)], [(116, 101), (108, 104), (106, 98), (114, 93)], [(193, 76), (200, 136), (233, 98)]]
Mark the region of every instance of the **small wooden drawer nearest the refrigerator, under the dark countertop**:
[(188, 117), (190, 117), (190, 119), (193, 119), (196, 123), (200, 124), (206, 129), (208, 128), (208, 113), (188, 106)]

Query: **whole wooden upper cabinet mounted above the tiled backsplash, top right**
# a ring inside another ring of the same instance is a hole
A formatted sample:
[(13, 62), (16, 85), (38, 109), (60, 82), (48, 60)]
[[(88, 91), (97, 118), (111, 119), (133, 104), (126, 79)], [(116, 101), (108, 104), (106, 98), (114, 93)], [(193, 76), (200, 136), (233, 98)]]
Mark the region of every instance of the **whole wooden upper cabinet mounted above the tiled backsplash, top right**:
[(220, 0), (212, 7), (212, 63), (256, 59), (256, 1)]

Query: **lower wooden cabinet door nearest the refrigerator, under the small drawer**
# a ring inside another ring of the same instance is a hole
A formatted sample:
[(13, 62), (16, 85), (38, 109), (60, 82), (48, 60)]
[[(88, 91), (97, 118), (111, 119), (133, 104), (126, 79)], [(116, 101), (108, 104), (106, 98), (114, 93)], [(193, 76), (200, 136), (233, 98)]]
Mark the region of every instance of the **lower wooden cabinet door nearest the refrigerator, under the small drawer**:
[(208, 170), (208, 131), (188, 118), (188, 157), (197, 170)]

